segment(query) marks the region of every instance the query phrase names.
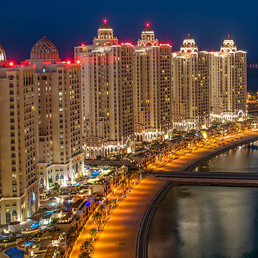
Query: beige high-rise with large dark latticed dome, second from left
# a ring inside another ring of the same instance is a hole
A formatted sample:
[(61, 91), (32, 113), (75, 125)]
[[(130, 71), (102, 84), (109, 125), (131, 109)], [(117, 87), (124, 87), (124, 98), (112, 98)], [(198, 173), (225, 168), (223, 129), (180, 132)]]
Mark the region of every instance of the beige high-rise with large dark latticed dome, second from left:
[(80, 65), (62, 62), (45, 37), (33, 46), (29, 62), (36, 68), (40, 187), (68, 185), (84, 172)]

